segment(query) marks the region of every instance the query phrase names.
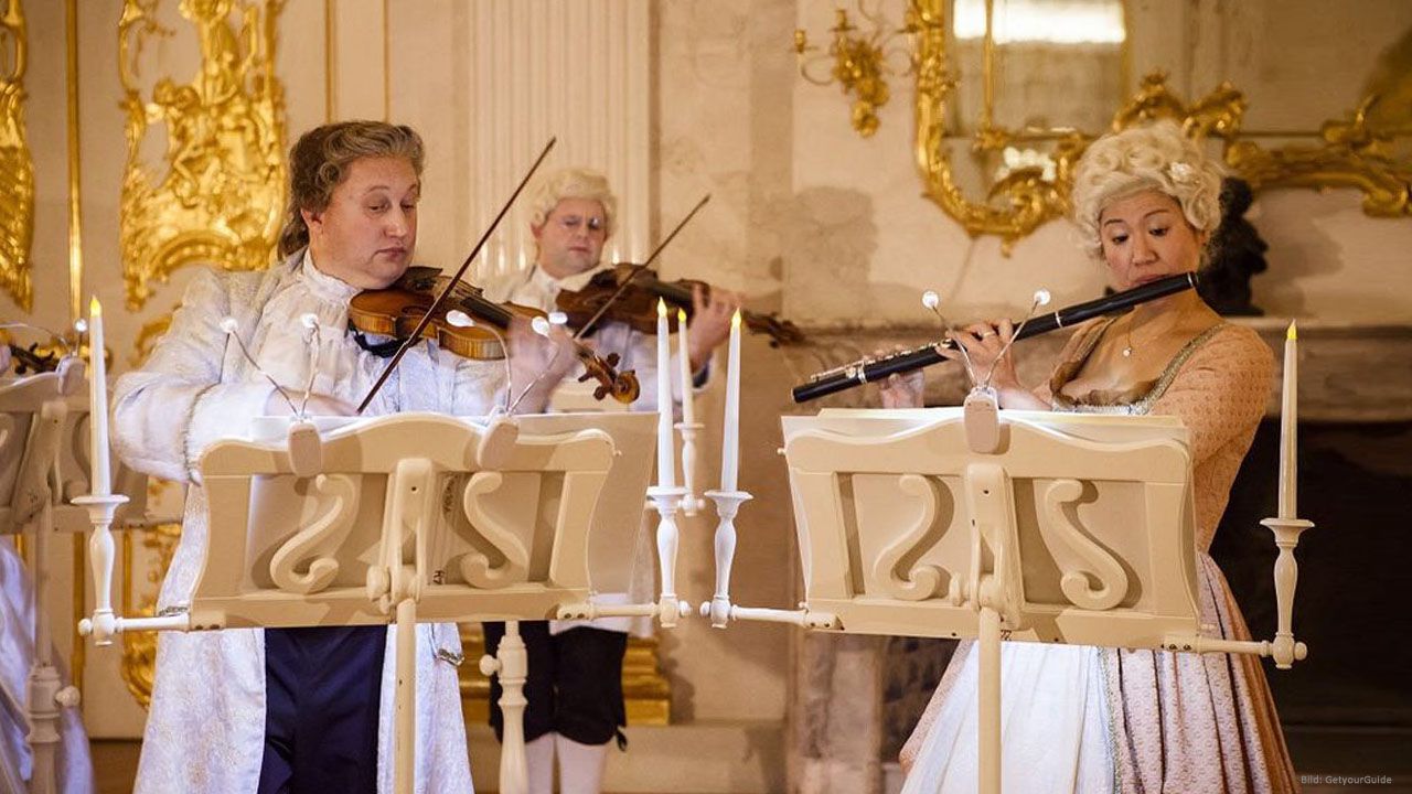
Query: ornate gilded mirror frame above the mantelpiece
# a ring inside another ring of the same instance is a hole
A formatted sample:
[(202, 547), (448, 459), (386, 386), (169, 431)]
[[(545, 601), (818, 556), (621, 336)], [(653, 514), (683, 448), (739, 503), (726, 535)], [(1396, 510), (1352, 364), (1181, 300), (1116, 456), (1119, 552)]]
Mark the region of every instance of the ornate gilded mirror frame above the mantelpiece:
[[(987, 0), (987, 8), (993, 0)], [(995, 181), (981, 201), (967, 198), (957, 185), (947, 138), (946, 109), (959, 82), (959, 72), (949, 65), (946, 48), (946, 0), (908, 0), (905, 28), (915, 47), (915, 157), (925, 185), (925, 195), (976, 237), (995, 235), (1010, 253), (1014, 243), (1041, 225), (1063, 218), (1070, 209), (1073, 168), (1087, 144), (1097, 137), (1084, 131), (1051, 131), (1041, 137), (1053, 141), (1053, 178), (1045, 179), (1039, 168), (1017, 168)], [(1127, 14), (1127, 8), (1125, 8)], [(986, 64), (990, 72), (993, 41), (987, 10)], [(987, 86), (990, 75), (986, 75)], [(987, 93), (988, 93), (987, 88)], [(1223, 82), (1206, 96), (1186, 103), (1155, 72), (1142, 79), (1138, 92), (1113, 116), (1111, 130), (1152, 119), (1173, 119), (1197, 140), (1221, 141), (1221, 158), (1233, 175), (1250, 182), (1252, 191), (1265, 188), (1351, 188), (1363, 192), (1363, 209), (1381, 218), (1412, 215), (1409, 184), (1412, 168), (1396, 162), (1391, 146), (1396, 133), (1374, 129), (1368, 112), (1377, 95), (1365, 96), (1341, 119), (1324, 122), (1316, 146), (1264, 148), (1241, 136), (1241, 120), (1248, 102)], [(995, 151), (1018, 136), (991, 123), (990, 97), (971, 147)], [(1034, 136), (1031, 136), (1034, 137)]]

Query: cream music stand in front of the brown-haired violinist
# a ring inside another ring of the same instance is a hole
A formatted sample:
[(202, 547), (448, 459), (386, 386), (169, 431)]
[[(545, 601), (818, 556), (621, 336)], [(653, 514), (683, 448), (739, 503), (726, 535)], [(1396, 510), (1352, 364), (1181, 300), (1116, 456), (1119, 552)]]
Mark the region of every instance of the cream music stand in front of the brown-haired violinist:
[[(136, 620), (109, 613), (80, 630), (102, 643), (124, 630), (395, 622), (394, 788), (409, 793), (414, 624), (505, 620), (497, 658), (481, 667), (505, 689), (501, 791), (522, 791), (527, 664), (517, 620), (594, 612), (594, 506), (600, 494), (626, 494), (635, 531), (647, 469), (618, 462), (650, 461), (654, 422), (652, 414), (257, 420), (260, 441), (220, 441), (202, 455), (206, 561), (220, 564), (203, 568), (189, 609)], [(97, 600), (102, 616), (110, 598), (100, 591)]]

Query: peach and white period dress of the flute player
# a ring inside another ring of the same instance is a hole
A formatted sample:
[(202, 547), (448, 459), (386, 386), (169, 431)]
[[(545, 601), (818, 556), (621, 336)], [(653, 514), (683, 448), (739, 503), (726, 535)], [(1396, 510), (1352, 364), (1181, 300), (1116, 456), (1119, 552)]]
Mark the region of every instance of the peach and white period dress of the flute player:
[[(1264, 415), (1269, 348), (1248, 328), (1220, 324), (1154, 381), (1079, 400), (1062, 394), (1111, 322), (1080, 326), (1038, 394), (1056, 411), (1180, 417), (1190, 431), (1202, 623), (1224, 639), (1250, 639), (1207, 550)], [(976, 791), (973, 650), (957, 650), (902, 749), (907, 793)], [(1299, 790), (1255, 657), (1005, 643), (1001, 665), (1007, 794)]]

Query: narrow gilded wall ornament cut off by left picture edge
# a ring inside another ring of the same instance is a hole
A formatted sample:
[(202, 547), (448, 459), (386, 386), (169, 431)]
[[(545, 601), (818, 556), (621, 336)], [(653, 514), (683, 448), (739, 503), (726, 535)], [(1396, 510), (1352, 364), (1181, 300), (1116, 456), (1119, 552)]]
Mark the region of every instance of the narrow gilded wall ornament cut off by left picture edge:
[(28, 48), (24, 10), (20, 0), (8, 0), (0, 16), (0, 287), (24, 311), (34, 307), (34, 158), (24, 131)]

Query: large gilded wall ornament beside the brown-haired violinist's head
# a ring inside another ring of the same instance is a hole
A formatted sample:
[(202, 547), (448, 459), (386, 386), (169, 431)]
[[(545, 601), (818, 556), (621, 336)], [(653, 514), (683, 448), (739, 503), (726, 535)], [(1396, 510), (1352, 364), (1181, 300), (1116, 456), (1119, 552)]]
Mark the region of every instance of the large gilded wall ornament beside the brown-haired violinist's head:
[[(284, 0), (181, 0), (201, 42), (188, 83), (160, 78), (151, 100), (138, 88), (138, 58), (158, 0), (124, 0), (119, 78), (127, 112), (121, 250), (127, 305), (141, 308), (152, 281), (208, 263), (226, 270), (268, 266), (284, 209), (284, 89), (274, 76), (277, 18)], [(239, 10), (239, 28), (232, 11)], [(165, 174), (138, 151), (150, 124), (165, 127)]]

